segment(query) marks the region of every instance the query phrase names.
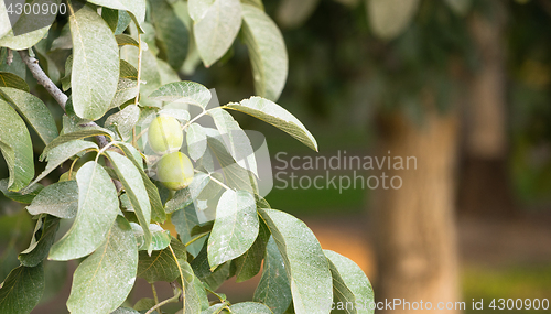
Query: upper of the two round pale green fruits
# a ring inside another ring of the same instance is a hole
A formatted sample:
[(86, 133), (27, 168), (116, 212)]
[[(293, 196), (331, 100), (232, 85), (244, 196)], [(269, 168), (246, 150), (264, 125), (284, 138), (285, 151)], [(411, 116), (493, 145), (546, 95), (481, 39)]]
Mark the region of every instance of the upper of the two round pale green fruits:
[(161, 115), (149, 124), (148, 141), (158, 154), (179, 151), (184, 141), (182, 126), (175, 118)]

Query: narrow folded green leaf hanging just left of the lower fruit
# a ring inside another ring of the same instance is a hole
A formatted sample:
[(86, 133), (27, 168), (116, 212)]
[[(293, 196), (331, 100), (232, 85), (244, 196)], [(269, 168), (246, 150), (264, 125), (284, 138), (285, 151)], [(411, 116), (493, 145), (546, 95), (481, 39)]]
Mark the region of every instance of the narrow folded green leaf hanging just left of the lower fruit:
[(164, 207), (163, 203), (161, 202), (161, 196), (159, 195), (159, 190), (153, 184), (153, 182), (151, 182), (145, 172), (143, 172), (143, 163), (141, 159), (138, 160), (136, 158), (140, 155), (140, 153), (137, 149), (127, 143), (120, 144), (119, 147), (122, 152), (125, 152), (127, 158), (134, 164), (136, 169), (138, 169), (138, 171), (140, 172), (151, 205), (151, 219), (155, 223), (164, 223), (164, 220), (166, 219), (166, 214), (164, 213)]

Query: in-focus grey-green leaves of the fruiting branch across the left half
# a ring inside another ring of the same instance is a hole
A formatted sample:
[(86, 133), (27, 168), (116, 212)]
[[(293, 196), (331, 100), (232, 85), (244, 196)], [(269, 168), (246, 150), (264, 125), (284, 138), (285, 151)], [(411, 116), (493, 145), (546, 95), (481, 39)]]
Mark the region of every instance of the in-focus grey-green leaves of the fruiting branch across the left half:
[[(4, 23), (6, 14), (0, 11), (0, 149), (10, 173), (0, 191), (28, 204), (36, 225), (19, 255), (21, 266), (0, 288), (1, 313), (30, 313), (39, 303), (44, 259), (80, 260), (67, 300), (71, 313), (153, 312), (153, 299), (125, 307), (138, 277), (170, 283), (174, 296), (165, 302), (188, 314), (328, 313), (333, 288), (345, 289), (345, 300), (372, 299), (357, 266), (324, 255), (303, 223), (267, 209), (259, 195), (255, 149), (228, 111), (263, 120), (317, 150), (306, 128), (273, 102), (287, 79), (288, 56), (261, 1), (73, 0), (68, 20), (20, 36)], [(213, 94), (182, 82), (179, 71), (198, 58), (208, 67), (229, 57), (237, 37), (249, 50), (261, 97), (210, 108)], [(24, 50), (12, 65), (3, 64), (7, 47)], [(33, 52), (45, 62), (36, 65)], [(51, 110), (53, 100), (63, 117)], [(181, 151), (194, 161), (190, 182), (176, 192), (161, 184), (158, 165), (166, 150), (151, 151), (159, 139), (149, 126), (160, 115), (179, 120), (172, 132), (177, 145), (185, 139)], [(201, 124), (202, 118), (214, 127)], [(31, 141), (34, 133), (42, 142)], [(35, 162), (46, 163), (36, 177)], [(58, 237), (66, 224), (71, 228)], [(234, 275), (240, 282), (261, 271), (255, 302), (233, 304), (216, 293)], [(209, 294), (219, 302), (209, 304)]]

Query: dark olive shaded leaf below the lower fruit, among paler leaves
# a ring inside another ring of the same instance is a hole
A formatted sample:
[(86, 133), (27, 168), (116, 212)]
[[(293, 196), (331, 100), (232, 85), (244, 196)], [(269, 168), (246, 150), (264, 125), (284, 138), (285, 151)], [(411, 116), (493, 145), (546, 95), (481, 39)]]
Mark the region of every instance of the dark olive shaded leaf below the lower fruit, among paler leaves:
[[(186, 258), (185, 246), (176, 238), (172, 238), (170, 246), (179, 260)], [(149, 283), (155, 281), (172, 282), (180, 277), (180, 270), (170, 248), (153, 251), (149, 256), (145, 251), (140, 251), (138, 262), (138, 277), (145, 279)]]

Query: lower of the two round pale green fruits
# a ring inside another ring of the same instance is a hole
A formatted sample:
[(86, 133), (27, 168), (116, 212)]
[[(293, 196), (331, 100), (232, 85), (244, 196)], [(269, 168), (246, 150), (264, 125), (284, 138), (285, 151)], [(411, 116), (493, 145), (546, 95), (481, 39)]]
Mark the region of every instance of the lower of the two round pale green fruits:
[(182, 190), (193, 181), (192, 161), (181, 152), (165, 154), (156, 164), (159, 181), (170, 190)]

